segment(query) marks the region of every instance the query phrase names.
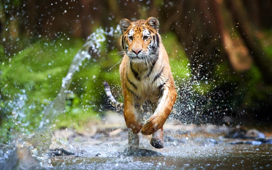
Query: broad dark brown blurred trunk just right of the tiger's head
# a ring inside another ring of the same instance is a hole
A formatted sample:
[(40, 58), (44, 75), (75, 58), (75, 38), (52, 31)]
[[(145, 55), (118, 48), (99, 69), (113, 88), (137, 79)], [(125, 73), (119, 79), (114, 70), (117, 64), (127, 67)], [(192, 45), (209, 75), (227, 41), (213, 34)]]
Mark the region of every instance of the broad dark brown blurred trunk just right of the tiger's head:
[(161, 23), (164, 22), (162, 30), (174, 32), (183, 44), (195, 80), (212, 75), (214, 64), (219, 60), (220, 44), (215, 38), (218, 35), (213, 18), (209, 18), (210, 11), (206, 1), (176, 1), (170, 8), (162, 8), (159, 17)]

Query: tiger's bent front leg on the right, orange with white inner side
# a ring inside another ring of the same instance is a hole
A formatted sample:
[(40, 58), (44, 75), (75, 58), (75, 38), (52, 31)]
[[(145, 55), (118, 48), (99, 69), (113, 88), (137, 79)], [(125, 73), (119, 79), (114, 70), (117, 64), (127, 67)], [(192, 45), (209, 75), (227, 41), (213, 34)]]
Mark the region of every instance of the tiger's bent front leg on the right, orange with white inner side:
[[(173, 81), (173, 79), (172, 79)], [(164, 123), (171, 113), (173, 105), (176, 101), (176, 89), (174, 85), (164, 86), (164, 91), (159, 99), (159, 104), (154, 111), (154, 114), (146, 121), (141, 133), (151, 135), (164, 126)]]

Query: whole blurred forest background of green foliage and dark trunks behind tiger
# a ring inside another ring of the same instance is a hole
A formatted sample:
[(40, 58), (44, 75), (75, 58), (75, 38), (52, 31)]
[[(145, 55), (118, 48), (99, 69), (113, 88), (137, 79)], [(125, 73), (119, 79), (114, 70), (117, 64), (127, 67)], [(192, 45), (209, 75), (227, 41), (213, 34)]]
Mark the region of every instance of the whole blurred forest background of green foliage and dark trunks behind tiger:
[(198, 124), (270, 122), (271, 11), (271, 0), (0, 1), (1, 141), (37, 129), (73, 57), (99, 30), (106, 37), (101, 52), (73, 76), (66, 112), (54, 126), (79, 130), (113, 109), (102, 82), (122, 101), (118, 65), (110, 69), (121, 59), (115, 55), (118, 24), (150, 16), (160, 22), (179, 93), (170, 117)]

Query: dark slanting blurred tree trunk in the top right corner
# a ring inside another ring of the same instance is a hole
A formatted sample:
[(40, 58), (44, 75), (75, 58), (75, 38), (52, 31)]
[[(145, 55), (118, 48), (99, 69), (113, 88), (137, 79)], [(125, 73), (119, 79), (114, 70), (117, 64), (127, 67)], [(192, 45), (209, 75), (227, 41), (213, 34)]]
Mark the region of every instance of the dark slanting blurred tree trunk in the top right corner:
[(268, 58), (266, 53), (264, 53), (262, 44), (258, 37), (256, 37), (257, 29), (249, 22), (243, 4), (240, 0), (226, 0), (225, 2), (232, 13), (235, 23), (238, 25), (238, 31), (246, 47), (250, 51), (254, 62), (261, 70), (264, 81), (272, 84), (272, 61)]

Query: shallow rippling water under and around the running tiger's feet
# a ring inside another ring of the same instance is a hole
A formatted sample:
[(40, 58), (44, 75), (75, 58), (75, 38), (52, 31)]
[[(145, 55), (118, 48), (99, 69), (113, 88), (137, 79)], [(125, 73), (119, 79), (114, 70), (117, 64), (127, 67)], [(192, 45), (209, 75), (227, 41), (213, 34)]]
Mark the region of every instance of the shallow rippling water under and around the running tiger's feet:
[[(151, 136), (139, 135), (140, 148), (162, 156), (120, 156), (117, 152), (123, 152), (128, 143), (125, 129), (113, 136), (106, 131), (92, 138), (78, 136), (65, 145), (76, 156), (51, 157), (52, 167), (46, 169), (272, 169), (272, 144), (231, 144), (253, 140), (226, 139), (227, 129), (219, 132), (218, 127), (217, 132), (206, 133), (208, 127), (198, 133), (166, 130), (163, 149), (149, 144)], [(271, 137), (271, 133), (265, 135)]]

